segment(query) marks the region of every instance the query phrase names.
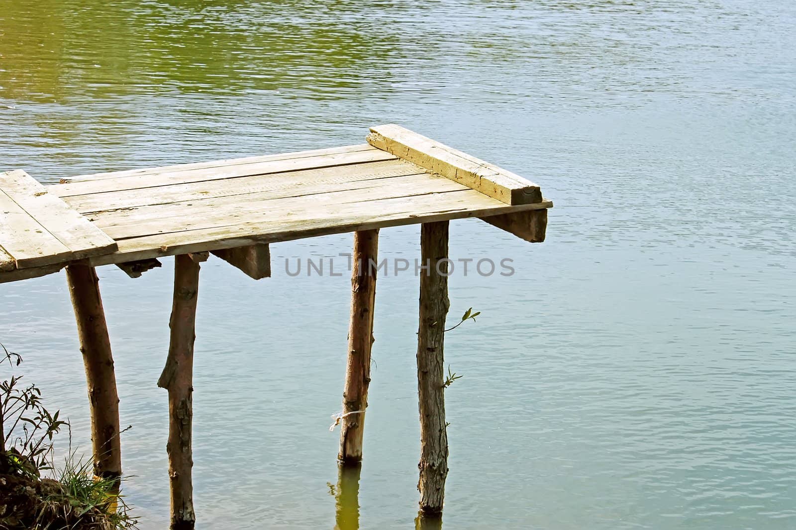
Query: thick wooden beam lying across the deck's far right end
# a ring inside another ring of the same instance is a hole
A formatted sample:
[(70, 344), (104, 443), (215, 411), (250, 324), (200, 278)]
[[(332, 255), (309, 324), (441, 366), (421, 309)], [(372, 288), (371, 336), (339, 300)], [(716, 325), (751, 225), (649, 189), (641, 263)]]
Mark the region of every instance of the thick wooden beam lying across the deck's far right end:
[(542, 200), (537, 184), (401, 126), (371, 128), (368, 143), (506, 204)]

